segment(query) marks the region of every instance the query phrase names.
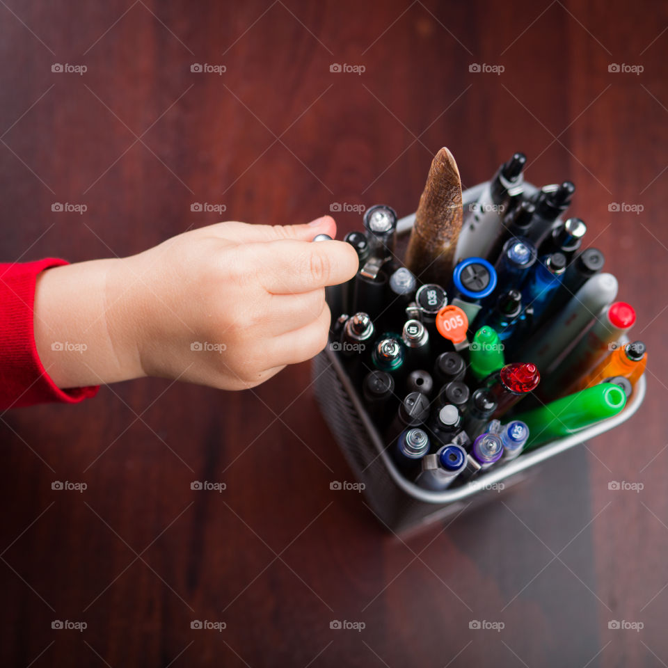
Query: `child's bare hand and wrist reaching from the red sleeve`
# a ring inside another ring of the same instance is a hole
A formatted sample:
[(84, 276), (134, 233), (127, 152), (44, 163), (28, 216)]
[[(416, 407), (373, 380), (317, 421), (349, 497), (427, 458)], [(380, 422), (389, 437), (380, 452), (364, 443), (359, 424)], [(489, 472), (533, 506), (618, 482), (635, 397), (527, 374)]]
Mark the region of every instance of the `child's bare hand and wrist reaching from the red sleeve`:
[[(122, 260), (49, 269), (35, 293), (42, 363), (61, 388), (144, 375), (231, 390), (262, 383), (326, 345), (324, 286), (358, 269), (349, 244), (311, 243), (335, 230), (330, 216), (218, 223)], [(85, 350), (53, 350), (56, 341)]]

